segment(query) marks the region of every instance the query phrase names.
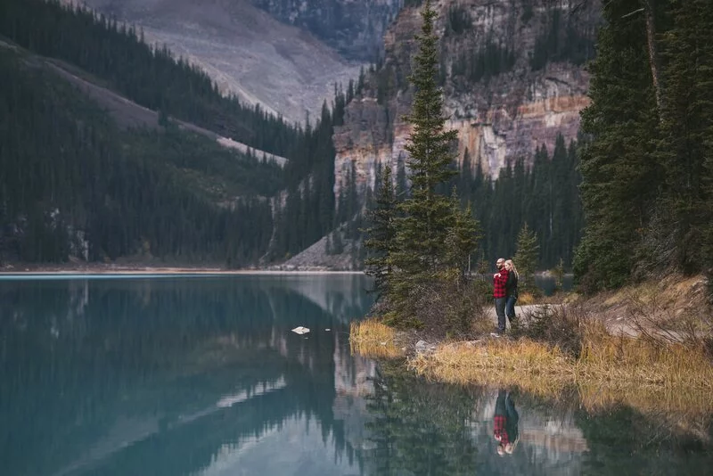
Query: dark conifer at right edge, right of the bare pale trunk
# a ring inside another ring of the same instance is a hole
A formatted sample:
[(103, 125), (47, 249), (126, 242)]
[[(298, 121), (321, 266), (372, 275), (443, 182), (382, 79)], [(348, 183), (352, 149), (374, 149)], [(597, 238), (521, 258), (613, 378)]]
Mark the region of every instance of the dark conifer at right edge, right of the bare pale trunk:
[[(713, 267), (713, 4), (673, 2), (673, 27), (663, 37), (663, 135), (666, 189), (660, 230), (653, 229), (652, 261), (685, 273)], [(706, 160), (709, 161), (707, 167)], [(660, 239), (656, 239), (660, 237)], [(671, 253), (656, 250), (668, 248)], [(670, 261), (663, 261), (668, 257)]]

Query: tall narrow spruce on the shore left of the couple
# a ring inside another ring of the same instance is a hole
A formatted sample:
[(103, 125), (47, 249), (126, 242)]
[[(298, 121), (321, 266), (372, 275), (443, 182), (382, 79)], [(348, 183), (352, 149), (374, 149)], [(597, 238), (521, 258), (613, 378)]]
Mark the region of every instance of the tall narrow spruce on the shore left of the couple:
[[(433, 31), (436, 12), (427, 0), (422, 9), (419, 51), (409, 80), (414, 104), (406, 121), (413, 125), (406, 151), (411, 172), (409, 196), (397, 204), (395, 249), (390, 253), (389, 324), (432, 330), (468, 330), (472, 309), (457, 305), (430, 308), (435, 301), (453, 303), (462, 298), (463, 263), (478, 242), (478, 225), (470, 210), (463, 212), (447, 185), (457, 171), (451, 167), (457, 139), (446, 130), (443, 96), (438, 87), (438, 37)], [(444, 190), (446, 189), (446, 190)], [(454, 293), (454, 294), (451, 294)], [(430, 311), (421, 307), (430, 308)], [(426, 322), (428, 320), (429, 322)]]

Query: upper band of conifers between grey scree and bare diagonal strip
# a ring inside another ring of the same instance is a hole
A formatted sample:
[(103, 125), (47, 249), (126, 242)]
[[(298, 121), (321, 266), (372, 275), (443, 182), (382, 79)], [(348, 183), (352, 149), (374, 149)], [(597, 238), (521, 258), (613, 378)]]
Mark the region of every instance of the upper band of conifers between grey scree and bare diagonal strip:
[(209, 76), (167, 48), (152, 49), (140, 31), (57, 0), (4, 0), (0, 34), (29, 50), (70, 62), (106, 86), (154, 111), (164, 111), (266, 152), (289, 156), (300, 133), (258, 107), (224, 97)]

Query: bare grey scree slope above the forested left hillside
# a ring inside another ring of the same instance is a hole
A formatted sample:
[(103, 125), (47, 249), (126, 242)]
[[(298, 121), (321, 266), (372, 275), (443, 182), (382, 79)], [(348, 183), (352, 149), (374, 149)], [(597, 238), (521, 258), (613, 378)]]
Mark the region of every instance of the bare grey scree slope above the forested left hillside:
[(356, 78), (349, 63), (305, 31), (285, 25), (249, 0), (86, 0), (98, 12), (143, 29), (209, 73), (221, 90), (291, 121), (313, 116), (334, 83)]

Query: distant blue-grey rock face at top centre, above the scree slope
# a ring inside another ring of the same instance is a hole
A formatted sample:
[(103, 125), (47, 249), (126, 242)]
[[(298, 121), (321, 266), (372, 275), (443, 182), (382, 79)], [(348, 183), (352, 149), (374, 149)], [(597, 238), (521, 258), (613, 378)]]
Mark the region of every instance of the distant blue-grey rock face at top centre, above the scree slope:
[(402, 0), (251, 0), (276, 19), (307, 29), (345, 58), (373, 62)]

